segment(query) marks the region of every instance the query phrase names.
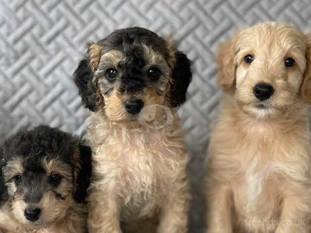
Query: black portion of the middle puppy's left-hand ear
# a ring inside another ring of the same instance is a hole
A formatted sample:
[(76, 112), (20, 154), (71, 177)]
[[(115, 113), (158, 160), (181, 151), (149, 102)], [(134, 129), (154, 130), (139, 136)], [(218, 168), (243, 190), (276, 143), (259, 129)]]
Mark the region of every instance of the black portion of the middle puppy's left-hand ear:
[(95, 112), (97, 109), (97, 97), (92, 84), (93, 72), (88, 58), (80, 61), (78, 68), (74, 71), (73, 77), (75, 84), (79, 88), (79, 95), (82, 98), (83, 105)]

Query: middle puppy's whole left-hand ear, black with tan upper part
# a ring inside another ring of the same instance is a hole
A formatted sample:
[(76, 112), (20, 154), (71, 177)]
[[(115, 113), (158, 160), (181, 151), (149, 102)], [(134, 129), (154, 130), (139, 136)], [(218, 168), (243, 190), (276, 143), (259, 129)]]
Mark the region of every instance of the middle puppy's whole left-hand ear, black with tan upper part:
[(73, 74), (83, 105), (93, 112), (98, 110), (99, 105), (104, 104), (103, 97), (99, 93), (97, 81), (93, 80), (100, 57), (101, 46), (96, 43), (90, 44), (85, 58), (80, 61)]

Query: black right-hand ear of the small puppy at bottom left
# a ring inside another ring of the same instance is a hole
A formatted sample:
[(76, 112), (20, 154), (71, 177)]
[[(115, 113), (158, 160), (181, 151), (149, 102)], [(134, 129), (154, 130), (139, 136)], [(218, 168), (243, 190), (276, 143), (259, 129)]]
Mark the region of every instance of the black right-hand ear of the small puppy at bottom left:
[(76, 190), (73, 193), (73, 199), (78, 202), (84, 202), (87, 189), (90, 185), (92, 171), (92, 150), (91, 147), (79, 145), (79, 173), (76, 178)]

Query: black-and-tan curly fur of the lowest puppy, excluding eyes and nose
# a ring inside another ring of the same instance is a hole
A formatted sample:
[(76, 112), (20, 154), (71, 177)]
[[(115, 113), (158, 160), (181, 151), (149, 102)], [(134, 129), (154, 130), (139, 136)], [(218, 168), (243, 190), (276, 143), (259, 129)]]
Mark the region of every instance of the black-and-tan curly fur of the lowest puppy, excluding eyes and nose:
[[(0, 231), (36, 233), (86, 232), (84, 202), (91, 175), (91, 148), (77, 137), (48, 126), (21, 131), (1, 148), (6, 199), (0, 206)], [(62, 175), (57, 184), (50, 175)], [(14, 180), (21, 176), (20, 182)], [(31, 222), (26, 207), (41, 209)]]

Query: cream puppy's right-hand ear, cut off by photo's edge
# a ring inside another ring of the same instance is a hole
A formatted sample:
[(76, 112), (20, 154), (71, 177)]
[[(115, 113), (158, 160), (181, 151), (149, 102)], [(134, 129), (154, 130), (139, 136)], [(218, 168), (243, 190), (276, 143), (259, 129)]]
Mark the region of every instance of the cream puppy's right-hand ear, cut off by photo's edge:
[(311, 34), (306, 35), (306, 69), (300, 92), (302, 98), (311, 104)]

